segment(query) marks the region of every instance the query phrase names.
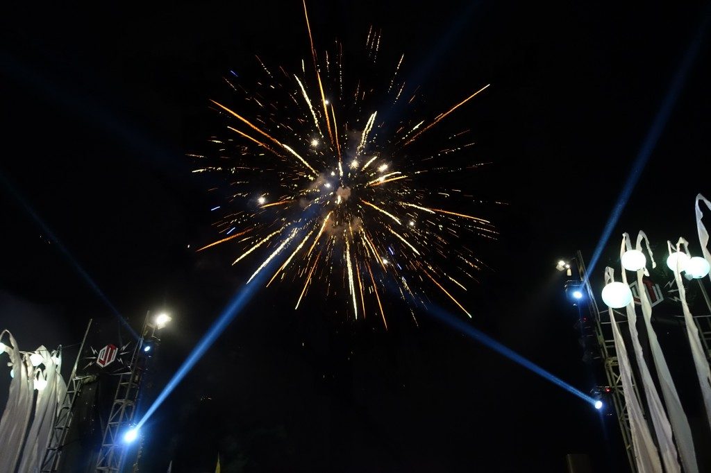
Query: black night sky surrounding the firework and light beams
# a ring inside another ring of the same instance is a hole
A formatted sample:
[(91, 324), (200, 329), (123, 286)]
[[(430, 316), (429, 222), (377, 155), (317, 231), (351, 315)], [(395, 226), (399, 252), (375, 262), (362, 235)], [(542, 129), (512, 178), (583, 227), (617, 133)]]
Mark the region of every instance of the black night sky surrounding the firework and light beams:
[[(587, 391), (555, 261), (591, 256), (708, 9), (416, 4), (311, 2), (316, 43), (358, 50), (370, 24), (382, 28), (383, 54), (405, 53), (431, 114), (491, 82), (449, 124), (471, 126), (474, 159), (494, 163), (470, 189), (509, 204), (488, 210), (502, 234), (479, 247), (496, 271), (466, 298), (471, 323)], [(229, 249), (186, 248), (215, 234), (185, 154), (219, 126), (208, 99), (229, 97), (230, 69), (257, 77), (255, 54), (291, 69), (308, 59), (301, 3), (31, 4), (6, 6), (0, 24), (0, 172), (134, 325), (173, 312), (155, 396), (249, 271), (230, 266)], [(643, 228), (698, 252), (710, 63), (703, 40), (611, 246)], [(88, 318), (111, 312), (0, 195), (0, 327), (23, 349), (78, 341)], [(573, 452), (626, 471), (611, 418), (425, 312), (415, 327), (393, 299), (384, 332), (334, 314), (333, 301), (294, 312), (282, 290), (257, 293), (151, 418), (146, 471), (171, 459), (175, 472), (207, 470), (218, 450), (228, 471), (562, 472)]]

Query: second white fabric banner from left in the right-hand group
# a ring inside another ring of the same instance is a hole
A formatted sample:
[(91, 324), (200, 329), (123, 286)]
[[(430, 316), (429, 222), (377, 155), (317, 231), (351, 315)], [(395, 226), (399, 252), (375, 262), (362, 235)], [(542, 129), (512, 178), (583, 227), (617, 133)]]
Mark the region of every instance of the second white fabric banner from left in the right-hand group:
[[(641, 243), (642, 240), (646, 239), (646, 235), (644, 232), (639, 232), (639, 235), (637, 237), (637, 244), (636, 244), (636, 249), (638, 251), (642, 251), (641, 248)], [(647, 246), (648, 241), (647, 241)], [(620, 249), (620, 258), (622, 257), (622, 254), (624, 254), (624, 251), (632, 249), (631, 247), (631, 241), (629, 239), (629, 234), (624, 234), (622, 236), (622, 245)], [(651, 259), (652, 263), (652, 268), (656, 267), (656, 263), (654, 262), (654, 259), (652, 257), (651, 251), (648, 251), (649, 258)], [(644, 288), (644, 286), (641, 283), (641, 278), (643, 273), (646, 273), (646, 268), (641, 268), (637, 273), (637, 284), (638, 288)], [(622, 275), (622, 282), (627, 284), (627, 275), (625, 272), (624, 268), (621, 268), (621, 275)], [(640, 289), (640, 292), (642, 292), (643, 289)], [(637, 313), (636, 313), (636, 308), (634, 304), (634, 300), (631, 301), (627, 307), (626, 307), (626, 312), (627, 312), (627, 320), (629, 322), (629, 332), (632, 340), (632, 347), (634, 348), (634, 354), (635, 358), (637, 361), (637, 367), (639, 369), (639, 374), (640, 374), (640, 384), (638, 384), (638, 387), (640, 387), (640, 391), (644, 392), (644, 396), (647, 400), (647, 405), (649, 408), (649, 414), (652, 420), (652, 425), (654, 428), (654, 432), (656, 434), (656, 439), (657, 439), (657, 445), (659, 446), (659, 453), (662, 458), (662, 462), (664, 464), (664, 470), (667, 473), (680, 473), (681, 467), (679, 465), (678, 461), (678, 455), (676, 451), (676, 447), (674, 445), (674, 440), (672, 437), (672, 429), (671, 425), (669, 423), (669, 419), (667, 418), (667, 415), (664, 411), (664, 406), (662, 405), (661, 398), (659, 398), (659, 393), (657, 392), (656, 386), (654, 386), (654, 381), (652, 380), (652, 376), (649, 372), (649, 368), (647, 366), (647, 362), (644, 359), (644, 352), (642, 350), (642, 346), (639, 342), (639, 337), (638, 337), (638, 332), (637, 332)], [(693, 446), (692, 446), (692, 451), (693, 451)]]

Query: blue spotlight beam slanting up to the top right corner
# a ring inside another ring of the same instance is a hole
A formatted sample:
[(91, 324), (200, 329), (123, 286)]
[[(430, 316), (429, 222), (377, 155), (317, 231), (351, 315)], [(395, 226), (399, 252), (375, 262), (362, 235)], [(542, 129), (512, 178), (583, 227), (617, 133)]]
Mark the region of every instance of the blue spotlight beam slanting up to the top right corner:
[(592, 254), (592, 258), (590, 259), (587, 276), (585, 276), (586, 282), (589, 278), (589, 275), (593, 273), (595, 265), (599, 261), (600, 255), (602, 255), (602, 251), (607, 245), (607, 241), (609, 241), (610, 235), (612, 234), (612, 231), (614, 230), (614, 227), (616, 226), (619, 217), (622, 211), (624, 210), (624, 207), (627, 205), (627, 201), (629, 200), (629, 197), (632, 194), (632, 191), (634, 190), (637, 181), (642, 175), (647, 161), (649, 160), (649, 156), (654, 151), (654, 148), (656, 147), (656, 144), (659, 141), (659, 137), (663, 133), (664, 127), (669, 121), (669, 116), (671, 115), (671, 112), (674, 108), (674, 104), (676, 103), (679, 94), (684, 88), (684, 84), (686, 83), (686, 77), (688, 76), (691, 66), (694, 64), (694, 60), (696, 59), (703, 38), (705, 37), (710, 16), (711, 4), (708, 4), (705, 11), (705, 15), (702, 18), (701, 24), (696, 32), (696, 35), (694, 36), (693, 40), (691, 40), (691, 43), (688, 46), (686, 53), (678, 69), (676, 70), (674, 77), (672, 78), (669, 90), (663, 99), (661, 107), (659, 107), (659, 111), (654, 117), (652, 126), (649, 128), (649, 131), (647, 132), (644, 141), (642, 141), (642, 146), (637, 153), (637, 157), (634, 160), (634, 163), (632, 164), (629, 178), (627, 178), (624, 187), (622, 187), (622, 191), (620, 192), (619, 197), (617, 197), (617, 203), (613, 207), (612, 212), (610, 213), (610, 216), (607, 219), (607, 223), (605, 224), (605, 227), (602, 230), (602, 235), (600, 236), (598, 244), (595, 247), (595, 251)]

